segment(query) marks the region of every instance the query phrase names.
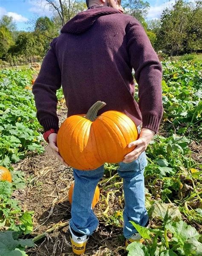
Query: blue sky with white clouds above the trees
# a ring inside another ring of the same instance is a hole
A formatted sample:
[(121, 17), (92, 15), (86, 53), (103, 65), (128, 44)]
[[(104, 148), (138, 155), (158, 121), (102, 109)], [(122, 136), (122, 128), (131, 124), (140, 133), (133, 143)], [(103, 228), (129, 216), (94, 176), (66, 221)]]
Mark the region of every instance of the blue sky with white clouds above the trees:
[[(162, 10), (171, 6), (174, 0), (147, 0), (150, 9), (147, 20), (159, 18)], [(29, 30), (33, 20), (40, 16), (52, 17), (52, 11), (45, 0), (0, 0), (0, 18), (3, 15), (13, 17), (18, 30)]]

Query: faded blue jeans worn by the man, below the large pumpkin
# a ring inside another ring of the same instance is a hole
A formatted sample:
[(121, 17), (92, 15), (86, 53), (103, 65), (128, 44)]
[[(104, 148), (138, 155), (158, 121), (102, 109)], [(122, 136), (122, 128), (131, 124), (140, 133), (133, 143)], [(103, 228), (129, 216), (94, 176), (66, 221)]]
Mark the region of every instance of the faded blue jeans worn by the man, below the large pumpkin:
[[(145, 151), (132, 163), (119, 163), (118, 175), (123, 178), (125, 199), (123, 233), (127, 239), (133, 233), (137, 233), (129, 221), (144, 226), (149, 219), (144, 196), (145, 166), (147, 166)], [(92, 235), (98, 227), (98, 218), (95, 216), (91, 204), (98, 181), (103, 177), (104, 165), (91, 171), (73, 169), (73, 174), (75, 186), (72, 195), (70, 226), (78, 233)]]

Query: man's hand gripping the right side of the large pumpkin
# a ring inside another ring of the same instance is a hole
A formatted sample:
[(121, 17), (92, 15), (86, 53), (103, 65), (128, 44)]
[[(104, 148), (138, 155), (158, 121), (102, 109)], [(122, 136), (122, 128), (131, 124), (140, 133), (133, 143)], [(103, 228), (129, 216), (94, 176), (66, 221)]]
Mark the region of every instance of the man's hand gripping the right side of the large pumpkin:
[(136, 148), (127, 155), (125, 155), (123, 162), (131, 163), (136, 160), (139, 155), (146, 150), (147, 145), (150, 143), (154, 135), (154, 131), (148, 128), (142, 128), (140, 131), (139, 139), (128, 144), (129, 148), (133, 146), (136, 146)]

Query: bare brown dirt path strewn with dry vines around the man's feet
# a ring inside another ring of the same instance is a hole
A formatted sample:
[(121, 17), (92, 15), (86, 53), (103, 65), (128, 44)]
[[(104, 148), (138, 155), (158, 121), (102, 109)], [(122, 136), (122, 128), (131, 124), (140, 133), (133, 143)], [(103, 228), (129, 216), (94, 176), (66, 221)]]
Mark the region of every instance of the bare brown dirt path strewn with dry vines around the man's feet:
[[(66, 118), (66, 106), (60, 104), (58, 111), (60, 122)], [(69, 239), (68, 222), (71, 218), (71, 205), (68, 201), (68, 190), (72, 184), (72, 170), (63, 166), (52, 154), (48, 145), (45, 145), (45, 153), (31, 155), (17, 163), (14, 168), (26, 173), (29, 183), (24, 190), (16, 191), (15, 197), (22, 203), (25, 210), (34, 211), (34, 231), (31, 237), (42, 234), (55, 224), (64, 224), (64, 227), (55, 229), (51, 233), (38, 240), (35, 248), (27, 250), (29, 256), (66, 256), (74, 255)], [(199, 152), (202, 148), (192, 143), (193, 158), (199, 161)], [(101, 194), (106, 195), (106, 191)], [(102, 196), (101, 196), (102, 198)], [(114, 196), (110, 201), (109, 211), (118, 211), (123, 205), (118, 203), (118, 197)], [(106, 225), (101, 212), (107, 208), (107, 204), (101, 200), (95, 207), (95, 213), (100, 221), (96, 232), (89, 238), (87, 250), (84, 255), (92, 256), (125, 256), (124, 238), (121, 227)]]

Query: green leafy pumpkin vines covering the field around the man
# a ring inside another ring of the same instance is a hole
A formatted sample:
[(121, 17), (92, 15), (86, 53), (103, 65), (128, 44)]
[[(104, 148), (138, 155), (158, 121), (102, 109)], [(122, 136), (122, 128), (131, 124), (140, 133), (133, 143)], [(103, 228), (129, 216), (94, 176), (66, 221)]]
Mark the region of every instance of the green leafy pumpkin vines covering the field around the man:
[[(197, 61), (162, 65), (164, 116), (159, 134), (147, 147), (148, 165), (144, 172), (151, 227), (146, 229), (133, 223), (144, 238), (143, 244), (122, 246), (119, 254), (110, 251), (95, 255), (202, 255), (202, 65)], [(4, 231), (0, 232), (0, 256), (25, 256), (25, 248), (34, 246), (32, 239), (26, 239), (32, 234), (33, 212), (24, 211), (14, 195), (35, 177), (12, 168), (13, 163), (26, 158), (31, 151), (43, 152), (42, 129), (35, 117), (31, 92), (32, 76), (31, 70), (0, 71), (0, 165), (9, 167), (13, 178), (12, 184), (0, 181), (0, 230)], [(62, 97), (59, 90), (58, 98)], [(101, 225), (121, 230), (124, 194), (117, 167), (105, 164), (99, 185), (101, 198), (95, 212)], [(124, 244), (119, 238), (120, 244)]]

